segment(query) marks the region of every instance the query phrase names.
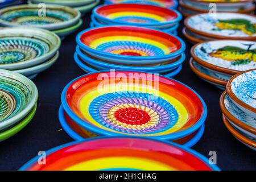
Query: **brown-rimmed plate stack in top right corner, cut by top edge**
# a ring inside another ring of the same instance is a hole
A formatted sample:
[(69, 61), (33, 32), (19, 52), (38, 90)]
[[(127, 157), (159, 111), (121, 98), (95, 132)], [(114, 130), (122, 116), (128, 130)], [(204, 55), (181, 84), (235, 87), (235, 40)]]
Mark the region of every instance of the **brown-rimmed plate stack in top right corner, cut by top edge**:
[(217, 12), (253, 14), (255, 10), (253, 0), (180, 0), (179, 4), (179, 10), (183, 16), (214, 13), (214, 10)]

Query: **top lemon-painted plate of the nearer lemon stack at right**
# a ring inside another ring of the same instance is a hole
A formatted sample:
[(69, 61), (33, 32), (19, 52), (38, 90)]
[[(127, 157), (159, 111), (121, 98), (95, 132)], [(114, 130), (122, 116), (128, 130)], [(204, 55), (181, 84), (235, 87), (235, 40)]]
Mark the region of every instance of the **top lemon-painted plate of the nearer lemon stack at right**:
[(234, 75), (256, 68), (256, 43), (245, 40), (216, 40), (196, 44), (191, 56), (214, 71)]

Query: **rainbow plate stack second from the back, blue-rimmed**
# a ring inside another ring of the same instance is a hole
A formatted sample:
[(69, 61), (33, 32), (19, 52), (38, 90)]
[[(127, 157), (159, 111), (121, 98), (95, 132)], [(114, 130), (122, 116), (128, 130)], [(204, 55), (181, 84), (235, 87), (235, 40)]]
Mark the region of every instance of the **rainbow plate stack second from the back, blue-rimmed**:
[(182, 15), (176, 10), (141, 4), (114, 4), (98, 6), (93, 10), (91, 27), (109, 24), (158, 28), (177, 34)]

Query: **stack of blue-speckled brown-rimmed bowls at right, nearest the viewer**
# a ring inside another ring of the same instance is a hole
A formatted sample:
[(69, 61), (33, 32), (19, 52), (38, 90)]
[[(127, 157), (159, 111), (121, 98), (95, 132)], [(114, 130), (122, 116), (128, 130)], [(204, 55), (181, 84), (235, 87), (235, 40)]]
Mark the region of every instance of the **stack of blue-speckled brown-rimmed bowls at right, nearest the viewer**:
[(230, 133), (256, 151), (256, 69), (230, 78), (220, 106)]

